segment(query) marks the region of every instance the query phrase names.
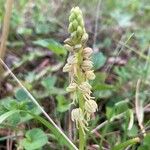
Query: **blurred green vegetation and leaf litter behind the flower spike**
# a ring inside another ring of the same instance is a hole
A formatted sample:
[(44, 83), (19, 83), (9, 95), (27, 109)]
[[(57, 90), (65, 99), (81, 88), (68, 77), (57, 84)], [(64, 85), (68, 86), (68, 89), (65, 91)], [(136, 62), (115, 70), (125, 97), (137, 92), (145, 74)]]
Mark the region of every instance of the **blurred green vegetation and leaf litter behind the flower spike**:
[[(88, 46), (94, 50), (96, 79), (91, 84), (99, 106), (90, 122), (87, 149), (111, 150), (119, 145), (115, 150), (150, 150), (149, 0), (14, 0), (6, 64), (78, 145), (65, 90), (68, 77), (62, 72), (68, 54), (63, 41), (75, 6), (83, 11)], [(0, 35), (4, 14), (5, 0), (0, 0)], [(0, 114), (18, 109), (41, 114), (5, 72), (0, 79)], [(135, 137), (140, 142), (129, 140)], [(67, 149), (57, 139), (26, 113), (15, 113), (0, 124), (0, 150)]]

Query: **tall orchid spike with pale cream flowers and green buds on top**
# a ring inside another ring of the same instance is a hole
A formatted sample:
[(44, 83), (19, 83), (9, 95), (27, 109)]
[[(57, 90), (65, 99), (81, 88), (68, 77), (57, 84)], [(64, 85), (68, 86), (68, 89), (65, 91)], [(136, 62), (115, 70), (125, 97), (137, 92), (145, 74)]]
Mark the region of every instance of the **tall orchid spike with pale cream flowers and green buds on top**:
[(70, 92), (73, 104), (76, 106), (71, 112), (71, 118), (79, 129), (79, 149), (84, 150), (88, 121), (97, 110), (97, 104), (95, 98), (91, 96), (92, 87), (89, 84), (89, 80), (95, 78), (91, 61), (93, 50), (86, 47), (88, 34), (79, 7), (71, 9), (68, 32), (70, 37), (64, 41), (64, 46), (69, 51), (69, 57), (63, 71), (69, 74), (70, 83), (67, 91)]

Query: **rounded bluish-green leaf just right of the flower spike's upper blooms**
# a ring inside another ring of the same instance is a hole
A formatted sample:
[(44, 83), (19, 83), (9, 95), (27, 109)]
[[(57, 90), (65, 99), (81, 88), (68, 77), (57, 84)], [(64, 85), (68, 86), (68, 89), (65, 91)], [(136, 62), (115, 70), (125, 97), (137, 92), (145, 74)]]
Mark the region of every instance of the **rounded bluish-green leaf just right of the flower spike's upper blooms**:
[(102, 52), (97, 52), (92, 55), (92, 61), (94, 63), (94, 70), (97, 70), (105, 64), (106, 57), (103, 55)]

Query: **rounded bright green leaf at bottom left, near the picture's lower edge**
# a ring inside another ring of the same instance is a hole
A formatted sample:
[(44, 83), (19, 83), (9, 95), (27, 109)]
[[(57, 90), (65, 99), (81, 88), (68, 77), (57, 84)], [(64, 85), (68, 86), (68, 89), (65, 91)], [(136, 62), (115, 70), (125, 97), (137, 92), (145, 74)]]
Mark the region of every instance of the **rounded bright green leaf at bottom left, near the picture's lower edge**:
[(48, 142), (47, 135), (39, 128), (28, 130), (25, 136), (22, 145), (26, 150), (41, 148)]

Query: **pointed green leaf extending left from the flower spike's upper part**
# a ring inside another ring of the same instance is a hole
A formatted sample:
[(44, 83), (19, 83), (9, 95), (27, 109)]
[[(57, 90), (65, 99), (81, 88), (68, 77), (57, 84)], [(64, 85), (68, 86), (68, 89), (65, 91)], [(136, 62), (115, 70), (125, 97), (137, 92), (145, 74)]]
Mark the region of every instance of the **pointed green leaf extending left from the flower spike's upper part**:
[(60, 54), (65, 55), (67, 52), (65, 48), (59, 42), (56, 42), (53, 39), (37, 40), (37, 41), (34, 41), (33, 44), (48, 48), (50, 51), (52, 51), (53, 53), (57, 55), (60, 55)]

